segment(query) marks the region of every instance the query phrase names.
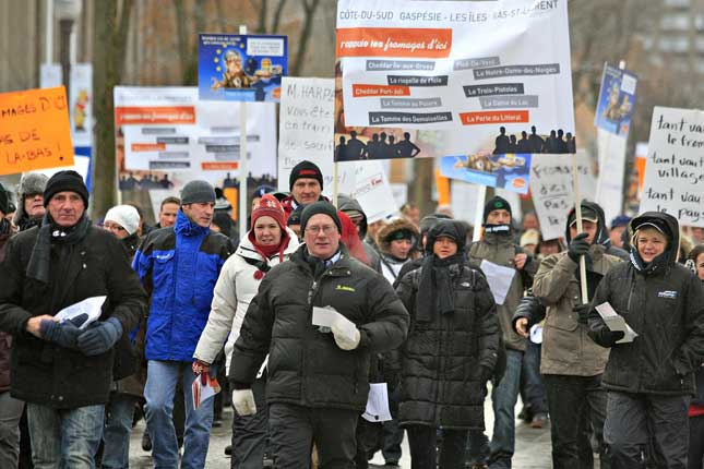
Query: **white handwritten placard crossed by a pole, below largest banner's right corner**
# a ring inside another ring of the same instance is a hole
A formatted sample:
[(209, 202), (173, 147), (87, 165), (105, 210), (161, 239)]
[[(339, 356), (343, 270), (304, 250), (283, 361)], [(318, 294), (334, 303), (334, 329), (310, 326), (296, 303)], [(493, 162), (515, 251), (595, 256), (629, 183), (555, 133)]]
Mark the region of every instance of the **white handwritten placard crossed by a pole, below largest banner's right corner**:
[[(581, 199), (589, 200), (596, 181), (588, 155), (577, 152)], [(530, 166), (530, 195), (545, 240), (564, 237), (568, 214), (575, 205), (572, 184), (572, 155), (534, 155)]]

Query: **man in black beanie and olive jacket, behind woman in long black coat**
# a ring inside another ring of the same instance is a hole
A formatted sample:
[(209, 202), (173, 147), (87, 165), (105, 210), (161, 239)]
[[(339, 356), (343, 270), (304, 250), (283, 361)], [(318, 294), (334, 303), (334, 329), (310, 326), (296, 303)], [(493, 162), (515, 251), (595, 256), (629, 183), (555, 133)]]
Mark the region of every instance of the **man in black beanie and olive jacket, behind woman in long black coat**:
[[(492, 468), (511, 468), (515, 448), (514, 408), (518, 397), (523, 353), (526, 348), (526, 339), (513, 329), (512, 318), (521, 303), (523, 292), (533, 285), (533, 277), (538, 268), (538, 263), (513, 241), (511, 217), (511, 204), (505, 199), (498, 195), (490, 199), (484, 208), (484, 237), (472, 244), (468, 255), (469, 264), (476, 268), (480, 268), (482, 261), (487, 261), (515, 270), (503, 303), (497, 304), (506, 352), (506, 369), (503, 378), (491, 392), (496, 418), (491, 454), (489, 461), (484, 462), (488, 462)], [(489, 286), (493, 288), (491, 281)], [(477, 441), (479, 436), (484, 435), (470, 434), (470, 447), (481, 444)]]

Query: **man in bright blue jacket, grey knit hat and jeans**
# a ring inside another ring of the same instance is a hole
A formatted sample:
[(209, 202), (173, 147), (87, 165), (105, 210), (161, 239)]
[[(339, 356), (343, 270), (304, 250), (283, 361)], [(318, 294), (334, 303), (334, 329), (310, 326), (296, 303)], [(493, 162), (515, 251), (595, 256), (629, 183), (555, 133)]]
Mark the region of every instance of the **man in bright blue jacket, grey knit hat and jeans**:
[(193, 407), (191, 385), (196, 375), (191, 363), (211, 312), (213, 288), (225, 260), (235, 251), (227, 237), (210, 229), (214, 207), (213, 187), (205, 181), (189, 182), (181, 192), (176, 225), (148, 233), (134, 256), (133, 267), (151, 296), (144, 397), (155, 468), (178, 467), (171, 419), (178, 380), (182, 381), (186, 398), (181, 467), (205, 466), (213, 399), (198, 409)]

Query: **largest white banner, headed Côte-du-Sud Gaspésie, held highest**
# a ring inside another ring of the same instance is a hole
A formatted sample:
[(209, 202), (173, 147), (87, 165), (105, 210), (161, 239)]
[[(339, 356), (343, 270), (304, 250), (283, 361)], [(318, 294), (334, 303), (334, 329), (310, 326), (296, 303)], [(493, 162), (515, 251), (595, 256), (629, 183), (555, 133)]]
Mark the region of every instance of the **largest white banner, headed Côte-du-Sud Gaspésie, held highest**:
[(338, 160), (540, 153), (532, 127), (574, 132), (566, 1), (339, 0), (337, 58)]

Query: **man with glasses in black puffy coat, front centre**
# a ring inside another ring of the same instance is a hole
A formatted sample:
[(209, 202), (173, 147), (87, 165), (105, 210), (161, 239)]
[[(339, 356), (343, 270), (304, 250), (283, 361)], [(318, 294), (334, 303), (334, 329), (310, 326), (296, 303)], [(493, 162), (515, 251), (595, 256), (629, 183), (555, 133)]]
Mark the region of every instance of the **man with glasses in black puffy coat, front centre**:
[[(321, 468), (353, 468), (370, 356), (405, 340), (408, 313), (391, 285), (339, 242), (334, 206), (307, 206), (301, 231), (306, 244), (270, 270), (244, 316), (230, 365), (232, 404), (240, 416), (256, 411), (251, 386), (269, 354), (274, 467), (300, 468), (314, 441)], [(312, 323), (323, 306), (336, 311), (330, 327)]]

